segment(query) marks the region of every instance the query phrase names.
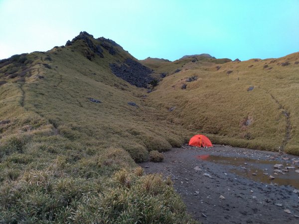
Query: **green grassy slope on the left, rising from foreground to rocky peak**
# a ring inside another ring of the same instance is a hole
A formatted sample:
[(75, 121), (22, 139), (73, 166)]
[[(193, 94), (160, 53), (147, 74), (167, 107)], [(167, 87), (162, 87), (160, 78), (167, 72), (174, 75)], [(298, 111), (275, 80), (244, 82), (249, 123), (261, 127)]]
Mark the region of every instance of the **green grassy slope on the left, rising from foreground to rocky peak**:
[[(0, 222), (192, 222), (170, 181), (136, 168), (184, 137), (144, 104), (145, 90), (111, 73), (132, 57), (117, 49), (90, 61), (79, 40), (1, 68)], [(6, 77), (23, 64), (25, 77)]]

